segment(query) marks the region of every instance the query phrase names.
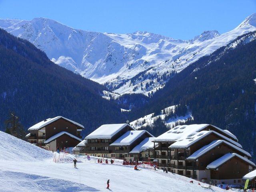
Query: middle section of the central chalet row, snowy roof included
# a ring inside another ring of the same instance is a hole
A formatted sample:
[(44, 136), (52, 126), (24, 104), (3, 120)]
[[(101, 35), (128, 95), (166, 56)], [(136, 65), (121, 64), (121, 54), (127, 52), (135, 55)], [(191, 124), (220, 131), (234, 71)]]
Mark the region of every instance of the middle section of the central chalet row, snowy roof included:
[(146, 130), (132, 130), (127, 131), (125, 134), (120, 136), (117, 140), (115, 140), (110, 146), (114, 147), (113, 153), (115, 153), (116, 158), (131, 158), (132, 160), (138, 159), (138, 154), (136, 158), (134, 158), (134, 153), (130, 153), (130, 151), (140, 144), (144, 139), (154, 137), (152, 134), (147, 132)]

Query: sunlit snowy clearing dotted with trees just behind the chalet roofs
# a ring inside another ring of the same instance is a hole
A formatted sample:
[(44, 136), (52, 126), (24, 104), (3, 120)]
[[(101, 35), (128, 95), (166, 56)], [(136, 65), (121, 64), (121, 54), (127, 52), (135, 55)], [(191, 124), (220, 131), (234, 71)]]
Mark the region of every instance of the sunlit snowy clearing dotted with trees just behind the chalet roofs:
[[(172, 116), (170, 116), (170, 113), (173, 113)], [(161, 118), (166, 126), (169, 128), (172, 128), (175, 126), (175, 123), (178, 122), (186, 122), (188, 119), (193, 119), (193, 116), (191, 113), (186, 114), (186, 116), (177, 116), (175, 114), (175, 105), (165, 108), (164, 110), (161, 110), (160, 114), (148, 114), (144, 117), (138, 118), (137, 120), (134, 120), (130, 122), (130, 125), (136, 129), (141, 128), (142, 126), (152, 126), (154, 124), (154, 121), (157, 118)]]

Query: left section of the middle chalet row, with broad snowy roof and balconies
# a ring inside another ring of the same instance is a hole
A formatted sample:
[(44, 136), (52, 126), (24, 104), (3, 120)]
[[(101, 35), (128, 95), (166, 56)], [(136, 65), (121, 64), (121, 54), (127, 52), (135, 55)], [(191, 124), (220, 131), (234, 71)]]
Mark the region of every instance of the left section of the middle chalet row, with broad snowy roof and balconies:
[(115, 158), (115, 146), (110, 146), (120, 136), (135, 129), (129, 124), (105, 124), (94, 130), (85, 139), (86, 154), (99, 157)]

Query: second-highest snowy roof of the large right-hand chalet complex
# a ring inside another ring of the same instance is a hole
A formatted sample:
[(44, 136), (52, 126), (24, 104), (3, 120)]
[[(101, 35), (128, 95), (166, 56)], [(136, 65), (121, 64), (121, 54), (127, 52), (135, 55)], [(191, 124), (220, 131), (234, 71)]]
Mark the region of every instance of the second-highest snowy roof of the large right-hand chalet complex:
[(196, 132), (196, 133), (193, 133), (193, 134), (190, 134), (188, 136), (185, 136), (183, 138), (180, 138), (180, 140), (176, 141), (175, 143), (171, 144), (169, 146), (169, 148), (188, 148), (190, 147), (192, 144), (198, 142), (200, 139), (208, 136), (209, 134), (216, 134), (218, 135), (220, 138), (242, 148), (242, 146), (238, 143), (238, 142), (235, 142), (234, 140), (230, 139), (230, 138), (227, 138), (226, 136), (222, 135), (222, 134), (219, 134), (218, 132), (216, 131), (200, 131), (200, 132)]

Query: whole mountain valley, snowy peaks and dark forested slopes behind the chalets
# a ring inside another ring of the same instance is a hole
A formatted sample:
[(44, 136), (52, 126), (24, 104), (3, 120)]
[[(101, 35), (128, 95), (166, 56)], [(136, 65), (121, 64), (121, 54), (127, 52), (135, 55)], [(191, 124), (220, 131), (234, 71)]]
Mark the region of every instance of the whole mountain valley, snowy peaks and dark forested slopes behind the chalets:
[(256, 14), (191, 40), (89, 32), (46, 18), (1, 19), (0, 27), (2, 130), (9, 111), (25, 128), (66, 116), (84, 124), (84, 135), (126, 120), (154, 136), (208, 123), (256, 153)]

